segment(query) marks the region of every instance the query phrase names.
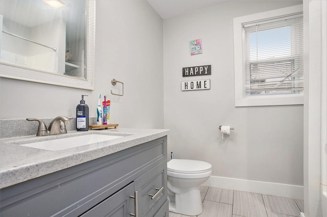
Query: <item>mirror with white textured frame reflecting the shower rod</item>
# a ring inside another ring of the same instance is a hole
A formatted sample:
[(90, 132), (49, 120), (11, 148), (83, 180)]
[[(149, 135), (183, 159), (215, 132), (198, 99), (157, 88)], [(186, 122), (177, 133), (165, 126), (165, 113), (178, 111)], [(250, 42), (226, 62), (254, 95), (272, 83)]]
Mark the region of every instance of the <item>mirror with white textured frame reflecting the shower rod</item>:
[(1, 77), (94, 90), (94, 55), (95, 0), (0, 1)]

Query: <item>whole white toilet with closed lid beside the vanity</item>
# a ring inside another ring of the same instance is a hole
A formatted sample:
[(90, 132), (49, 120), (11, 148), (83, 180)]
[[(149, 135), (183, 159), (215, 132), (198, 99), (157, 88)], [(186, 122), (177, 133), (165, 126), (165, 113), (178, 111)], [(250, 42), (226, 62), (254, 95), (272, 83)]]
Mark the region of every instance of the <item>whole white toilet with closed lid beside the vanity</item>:
[(202, 213), (200, 185), (211, 176), (211, 167), (200, 160), (172, 159), (167, 163), (169, 211)]

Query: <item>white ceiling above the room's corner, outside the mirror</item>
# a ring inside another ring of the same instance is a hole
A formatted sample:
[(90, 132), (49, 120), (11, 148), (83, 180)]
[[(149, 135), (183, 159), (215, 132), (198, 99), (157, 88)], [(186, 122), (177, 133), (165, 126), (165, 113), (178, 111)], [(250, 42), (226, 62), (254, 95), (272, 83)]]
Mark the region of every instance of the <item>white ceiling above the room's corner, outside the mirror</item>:
[(183, 15), (235, 0), (147, 0), (162, 19)]

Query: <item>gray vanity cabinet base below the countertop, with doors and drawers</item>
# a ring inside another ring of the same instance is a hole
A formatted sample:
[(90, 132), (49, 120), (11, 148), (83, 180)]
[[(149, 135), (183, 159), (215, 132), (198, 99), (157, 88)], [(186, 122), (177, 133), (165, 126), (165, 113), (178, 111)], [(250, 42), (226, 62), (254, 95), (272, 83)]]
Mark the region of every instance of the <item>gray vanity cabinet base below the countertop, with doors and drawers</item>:
[(0, 189), (0, 195), (2, 217), (168, 216), (167, 136)]

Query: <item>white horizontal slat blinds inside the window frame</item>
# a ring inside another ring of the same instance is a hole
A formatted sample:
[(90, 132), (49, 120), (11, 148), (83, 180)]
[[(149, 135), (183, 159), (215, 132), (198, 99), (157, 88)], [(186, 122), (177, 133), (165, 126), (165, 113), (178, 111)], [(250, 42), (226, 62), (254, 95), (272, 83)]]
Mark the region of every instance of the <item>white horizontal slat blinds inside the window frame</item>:
[(303, 90), (302, 14), (243, 23), (243, 30), (247, 95)]

